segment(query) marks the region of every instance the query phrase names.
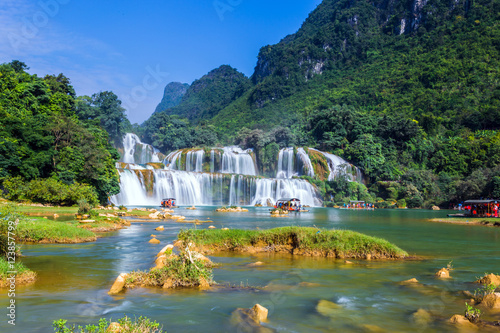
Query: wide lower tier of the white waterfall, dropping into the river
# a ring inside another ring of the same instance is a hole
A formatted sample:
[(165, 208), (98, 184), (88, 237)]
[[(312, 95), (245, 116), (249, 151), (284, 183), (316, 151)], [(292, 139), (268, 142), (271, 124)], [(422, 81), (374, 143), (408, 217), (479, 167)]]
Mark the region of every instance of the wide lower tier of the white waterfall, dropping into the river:
[(302, 179), (163, 169), (119, 169), (119, 173), (121, 191), (111, 197), (115, 205), (158, 206), (162, 198), (176, 198), (179, 206), (265, 205), (268, 199), (274, 204), (283, 197), (299, 198), (304, 205), (321, 205), (314, 186)]

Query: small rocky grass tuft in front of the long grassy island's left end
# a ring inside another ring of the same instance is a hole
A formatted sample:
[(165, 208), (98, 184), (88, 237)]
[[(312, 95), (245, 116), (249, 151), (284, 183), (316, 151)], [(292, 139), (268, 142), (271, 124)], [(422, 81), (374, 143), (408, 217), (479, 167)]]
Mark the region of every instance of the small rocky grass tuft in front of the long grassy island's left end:
[(168, 288), (209, 286), (214, 283), (212, 275), (213, 263), (196, 257), (190, 260), (186, 252), (179, 255), (169, 255), (162, 268), (153, 268), (149, 272), (131, 272), (126, 279), (125, 287), (133, 288), (136, 285), (145, 287)]

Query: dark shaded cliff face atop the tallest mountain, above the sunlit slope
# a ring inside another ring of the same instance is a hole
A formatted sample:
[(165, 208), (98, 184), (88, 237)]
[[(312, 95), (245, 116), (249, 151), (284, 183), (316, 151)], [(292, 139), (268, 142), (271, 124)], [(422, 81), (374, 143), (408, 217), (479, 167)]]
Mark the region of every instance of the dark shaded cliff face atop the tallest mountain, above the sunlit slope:
[[(307, 82), (339, 62), (362, 60), (380, 39), (424, 33), (444, 20), (465, 16), (470, 1), (325, 0), (297, 33), (261, 48), (252, 80), (258, 84), (278, 76), (295, 84)], [(282, 96), (271, 93), (267, 97)]]

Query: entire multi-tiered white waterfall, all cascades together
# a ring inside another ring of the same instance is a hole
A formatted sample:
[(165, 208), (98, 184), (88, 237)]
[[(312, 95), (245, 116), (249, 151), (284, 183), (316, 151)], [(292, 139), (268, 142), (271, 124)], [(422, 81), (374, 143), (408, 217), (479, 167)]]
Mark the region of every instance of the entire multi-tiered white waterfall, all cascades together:
[[(123, 146), (122, 162), (116, 164), (120, 193), (111, 198), (116, 205), (158, 206), (161, 199), (167, 197), (176, 198), (181, 206), (267, 205), (289, 197), (300, 199), (303, 205), (322, 204), (317, 189), (308, 181), (295, 177), (315, 175), (309, 151), (304, 148), (281, 149), (276, 178), (261, 178), (257, 177), (251, 149), (212, 148), (210, 157), (205, 157), (203, 149), (183, 149), (164, 156), (132, 133), (125, 135)], [(344, 159), (312, 150), (326, 159), (328, 180), (339, 175), (347, 175), (350, 181), (362, 179), (360, 170)], [(165, 169), (144, 166), (159, 162), (160, 156)]]

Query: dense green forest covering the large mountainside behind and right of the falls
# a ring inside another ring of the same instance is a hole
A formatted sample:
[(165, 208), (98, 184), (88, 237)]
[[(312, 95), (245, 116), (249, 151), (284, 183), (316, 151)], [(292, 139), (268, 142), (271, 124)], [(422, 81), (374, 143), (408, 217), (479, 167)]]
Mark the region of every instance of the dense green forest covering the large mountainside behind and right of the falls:
[[(166, 150), (242, 144), (264, 168), (279, 148), (320, 148), (359, 166), (374, 201), (500, 198), (499, 19), (498, 0), (324, 0), (262, 47), (246, 90), (211, 82), (230, 103), (157, 113), (142, 136)], [(181, 104), (207, 99), (188, 90)], [(336, 201), (360, 196), (316, 183)]]

